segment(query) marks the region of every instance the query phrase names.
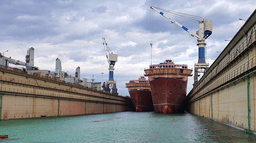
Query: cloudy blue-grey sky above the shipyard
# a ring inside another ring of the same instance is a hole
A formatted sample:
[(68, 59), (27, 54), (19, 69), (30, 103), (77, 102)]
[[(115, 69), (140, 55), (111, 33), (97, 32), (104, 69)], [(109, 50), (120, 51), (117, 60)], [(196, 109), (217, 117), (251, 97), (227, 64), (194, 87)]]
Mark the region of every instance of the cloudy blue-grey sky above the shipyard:
[[(1, 0), (0, 52), (25, 61), (29, 47), (35, 48), (35, 66), (55, 69), (60, 58), (62, 70), (75, 72), (98, 82), (108, 78), (108, 63), (102, 56), (102, 37), (118, 55), (114, 79), (119, 94), (129, 95), (125, 83), (143, 75), (151, 62), (150, 8), (158, 8), (206, 17), (213, 22), (213, 33), (207, 39), (207, 61), (213, 62), (256, 8), (254, 0)], [(166, 58), (194, 69), (198, 60), (196, 38), (171, 24), (159, 13), (152, 15), (152, 63)], [(191, 31), (198, 24), (172, 17)], [(212, 59), (211, 59), (212, 58)], [(103, 60), (103, 61), (102, 61)], [(103, 65), (104, 63), (104, 65)], [(104, 74), (102, 78), (102, 67)], [(189, 77), (187, 93), (193, 87)]]

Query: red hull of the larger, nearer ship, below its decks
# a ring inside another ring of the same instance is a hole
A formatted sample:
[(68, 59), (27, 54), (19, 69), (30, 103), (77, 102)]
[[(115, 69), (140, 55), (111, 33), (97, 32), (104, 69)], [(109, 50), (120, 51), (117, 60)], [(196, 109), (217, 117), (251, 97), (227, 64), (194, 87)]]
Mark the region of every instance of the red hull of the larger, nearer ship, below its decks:
[(187, 80), (159, 78), (150, 81), (150, 89), (156, 112), (170, 114), (185, 111)]

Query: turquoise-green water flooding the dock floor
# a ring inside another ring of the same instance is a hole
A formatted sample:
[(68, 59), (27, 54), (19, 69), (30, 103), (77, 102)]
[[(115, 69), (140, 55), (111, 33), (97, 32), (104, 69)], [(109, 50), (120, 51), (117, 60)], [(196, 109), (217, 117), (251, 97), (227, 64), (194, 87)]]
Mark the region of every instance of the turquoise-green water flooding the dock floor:
[(0, 142), (256, 142), (256, 135), (197, 115), (119, 112), (0, 120)]

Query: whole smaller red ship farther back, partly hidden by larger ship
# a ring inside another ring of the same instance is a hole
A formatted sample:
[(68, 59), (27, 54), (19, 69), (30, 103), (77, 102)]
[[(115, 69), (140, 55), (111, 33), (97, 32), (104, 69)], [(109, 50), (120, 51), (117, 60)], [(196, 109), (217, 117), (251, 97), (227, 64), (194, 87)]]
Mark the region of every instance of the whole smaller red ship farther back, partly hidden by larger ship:
[(154, 111), (149, 80), (141, 76), (125, 84), (136, 112)]

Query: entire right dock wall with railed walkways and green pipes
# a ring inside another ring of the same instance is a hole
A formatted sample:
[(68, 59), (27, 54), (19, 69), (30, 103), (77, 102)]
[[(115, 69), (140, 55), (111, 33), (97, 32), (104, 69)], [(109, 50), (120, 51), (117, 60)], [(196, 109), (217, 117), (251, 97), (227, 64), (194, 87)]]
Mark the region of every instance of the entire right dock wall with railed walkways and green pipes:
[(256, 132), (255, 27), (256, 10), (189, 92), (188, 112)]

